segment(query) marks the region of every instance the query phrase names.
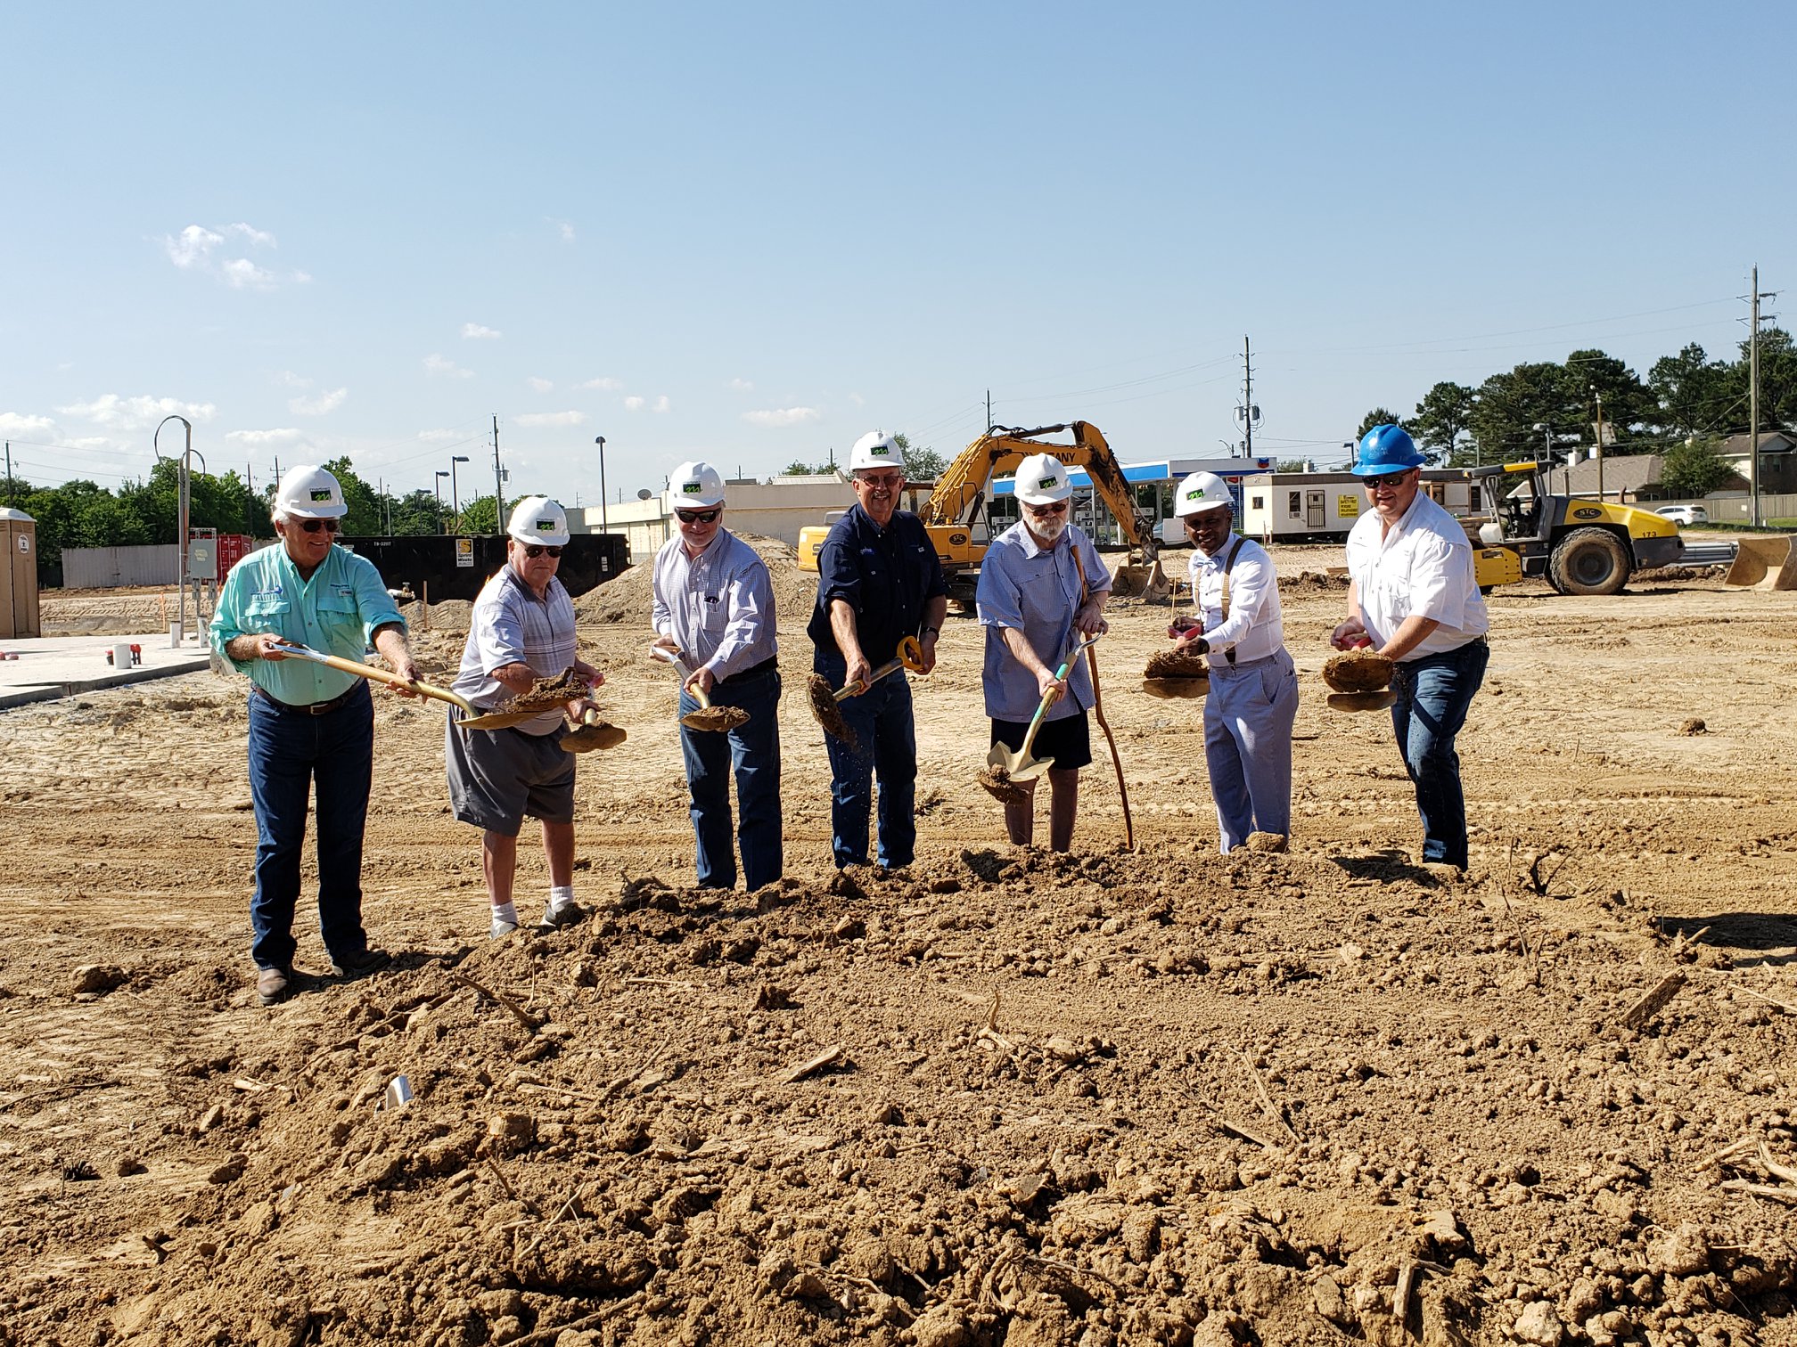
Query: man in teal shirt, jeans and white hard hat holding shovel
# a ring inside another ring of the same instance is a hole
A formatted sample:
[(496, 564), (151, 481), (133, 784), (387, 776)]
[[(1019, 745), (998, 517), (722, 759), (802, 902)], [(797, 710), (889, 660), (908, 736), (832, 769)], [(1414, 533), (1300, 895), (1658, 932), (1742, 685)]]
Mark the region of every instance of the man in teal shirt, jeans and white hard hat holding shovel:
[[(374, 779), (374, 702), (354, 674), (280, 654), (280, 643), (363, 659), (368, 643), (417, 681), (406, 621), (374, 562), (336, 546), (349, 506), (322, 467), (289, 471), (275, 490), (279, 544), (237, 562), (219, 593), (212, 648), (248, 674), (250, 797), (255, 801), (255, 991), (264, 1006), (293, 986), (305, 801), (318, 792), (318, 930), (331, 972), (359, 977), (388, 963), (361, 927), (361, 839)], [(403, 691), (394, 682), (395, 691)], [(412, 695), (406, 691), (404, 695)]]

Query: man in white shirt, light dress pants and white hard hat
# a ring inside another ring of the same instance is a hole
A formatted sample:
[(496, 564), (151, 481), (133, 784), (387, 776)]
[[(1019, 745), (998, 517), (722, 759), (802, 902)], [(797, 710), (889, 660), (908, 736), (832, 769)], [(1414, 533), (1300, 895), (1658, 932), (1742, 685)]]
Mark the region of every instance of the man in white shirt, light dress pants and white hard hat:
[(1292, 722), (1297, 670), (1285, 650), (1279, 578), (1267, 550), (1229, 530), (1235, 501), (1215, 472), (1179, 483), (1173, 514), (1191, 539), (1191, 596), (1199, 625), (1181, 645), (1208, 656), (1204, 762), (1224, 851), (1253, 832), (1292, 826)]

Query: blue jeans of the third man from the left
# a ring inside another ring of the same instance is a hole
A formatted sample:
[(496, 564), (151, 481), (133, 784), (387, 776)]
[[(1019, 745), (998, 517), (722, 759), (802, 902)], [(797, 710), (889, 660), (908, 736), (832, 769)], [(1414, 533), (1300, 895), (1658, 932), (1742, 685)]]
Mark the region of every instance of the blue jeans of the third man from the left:
[[(686, 760), (686, 790), (692, 832), (699, 841), (699, 887), (737, 887), (737, 857), (730, 846), (730, 772), (737, 776), (737, 846), (749, 891), (773, 884), (785, 869), (780, 844), (780, 674), (767, 670), (751, 679), (712, 688), (712, 706), (737, 706), (748, 722), (728, 735), (706, 729), (679, 731)], [(679, 713), (697, 711), (699, 702), (679, 695)]]

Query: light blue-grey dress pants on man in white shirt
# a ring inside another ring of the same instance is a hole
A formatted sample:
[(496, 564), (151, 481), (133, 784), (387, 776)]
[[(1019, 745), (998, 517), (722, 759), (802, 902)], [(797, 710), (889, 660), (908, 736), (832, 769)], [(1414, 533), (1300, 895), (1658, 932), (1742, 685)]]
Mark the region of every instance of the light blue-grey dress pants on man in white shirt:
[(1231, 665), (1211, 656), (1204, 699), (1204, 760), (1211, 769), (1217, 832), (1224, 851), (1251, 832), (1292, 830), (1292, 722), (1297, 670), (1281, 647), (1265, 659)]

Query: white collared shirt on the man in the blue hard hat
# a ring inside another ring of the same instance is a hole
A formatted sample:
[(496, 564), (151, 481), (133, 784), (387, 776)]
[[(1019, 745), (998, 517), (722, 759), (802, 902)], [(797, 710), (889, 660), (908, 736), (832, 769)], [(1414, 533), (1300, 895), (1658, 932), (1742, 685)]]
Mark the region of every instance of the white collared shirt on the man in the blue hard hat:
[(1441, 623), (1403, 657), (1405, 663), (1457, 650), (1490, 627), (1466, 530), (1423, 492), (1416, 492), (1411, 508), (1389, 530), (1378, 510), (1360, 515), (1348, 533), (1348, 575), (1373, 645), (1389, 641), (1411, 616)]

